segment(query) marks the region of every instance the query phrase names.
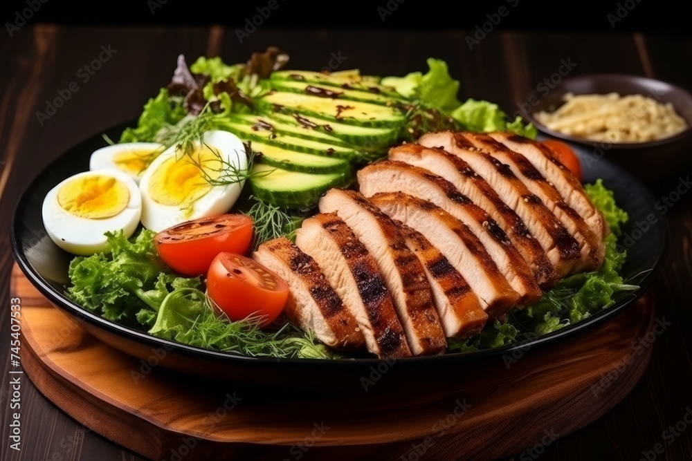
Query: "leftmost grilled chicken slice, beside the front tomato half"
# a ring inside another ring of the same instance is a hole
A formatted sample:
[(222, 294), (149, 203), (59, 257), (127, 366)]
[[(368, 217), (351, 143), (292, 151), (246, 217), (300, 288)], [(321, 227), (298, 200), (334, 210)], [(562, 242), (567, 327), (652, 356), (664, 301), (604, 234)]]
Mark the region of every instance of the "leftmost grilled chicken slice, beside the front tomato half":
[(339, 350), (365, 346), (356, 318), (322, 274), (316, 261), (285, 237), (262, 243), (253, 258), (276, 272), (289, 285), (284, 313), (298, 326), (315, 332), (317, 339)]

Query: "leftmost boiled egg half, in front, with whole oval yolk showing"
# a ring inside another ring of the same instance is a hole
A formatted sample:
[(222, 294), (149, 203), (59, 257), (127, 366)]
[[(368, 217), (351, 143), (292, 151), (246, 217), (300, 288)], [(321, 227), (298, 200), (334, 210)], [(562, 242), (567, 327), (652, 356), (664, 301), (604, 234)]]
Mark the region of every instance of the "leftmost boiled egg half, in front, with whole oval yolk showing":
[(134, 234), (142, 199), (132, 178), (116, 169), (84, 171), (53, 187), (42, 207), (51, 240), (73, 254), (88, 256), (106, 248), (107, 231)]

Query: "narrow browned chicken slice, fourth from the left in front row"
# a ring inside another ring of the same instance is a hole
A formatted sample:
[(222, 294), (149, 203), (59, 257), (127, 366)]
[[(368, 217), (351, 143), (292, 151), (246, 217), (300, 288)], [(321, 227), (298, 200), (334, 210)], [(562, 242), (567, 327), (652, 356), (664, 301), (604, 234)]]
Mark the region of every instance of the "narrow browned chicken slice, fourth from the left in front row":
[(409, 249), (423, 265), (444, 335), (467, 337), (479, 333), (488, 320), (476, 294), (449, 260), (420, 232), (396, 221)]

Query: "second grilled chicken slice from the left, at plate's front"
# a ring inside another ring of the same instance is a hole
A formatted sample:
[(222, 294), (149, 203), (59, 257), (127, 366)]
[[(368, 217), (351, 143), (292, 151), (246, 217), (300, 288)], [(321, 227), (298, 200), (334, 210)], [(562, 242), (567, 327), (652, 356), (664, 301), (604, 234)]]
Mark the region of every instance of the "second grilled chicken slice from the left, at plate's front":
[(336, 214), (316, 214), (295, 232), (361, 327), (367, 350), (381, 358), (410, 357), (392, 297), (377, 263)]

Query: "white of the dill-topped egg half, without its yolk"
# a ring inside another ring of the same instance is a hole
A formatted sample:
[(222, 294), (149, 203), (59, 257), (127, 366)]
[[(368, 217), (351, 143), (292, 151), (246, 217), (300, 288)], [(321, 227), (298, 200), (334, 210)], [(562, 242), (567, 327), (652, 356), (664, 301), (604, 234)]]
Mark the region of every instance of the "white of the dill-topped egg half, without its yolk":
[[(212, 150), (217, 151), (226, 164), (233, 164), (238, 170), (247, 169), (248, 159), (245, 147), (240, 138), (233, 133), (228, 131), (207, 131), (204, 134), (203, 142)], [(178, 155), (182, 154), (179, 153)], [(155, 232), (161, 232), (163, 229), (187, 220), (227, 213), (235, 205), (244, 186), (244, 180), (228, 185), (212, 186), (208, 193), (195, 200), (188, 209), (181, 209), (179, 206), (163, 205), (154, 200), (151, 194), (149, 194), (149, 183), (152, 180), (152, 176), (166, 160), (173, 156), (176, 156), (174, 146), (161, 153), (149, 165), (140, 180), (139, 189), (142, 196), (141, 220), (144, 227)]]

